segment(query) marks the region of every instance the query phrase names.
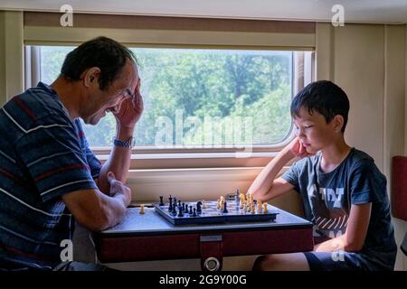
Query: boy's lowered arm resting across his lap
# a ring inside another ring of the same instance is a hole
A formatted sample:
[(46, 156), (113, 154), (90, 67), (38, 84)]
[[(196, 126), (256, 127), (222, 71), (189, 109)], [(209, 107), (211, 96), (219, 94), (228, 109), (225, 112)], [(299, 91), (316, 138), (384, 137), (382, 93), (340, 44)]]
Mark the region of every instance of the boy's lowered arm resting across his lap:
[(358, 252), (362, 250), (367, 228), (369, 227), (371, 210), (371, 202), (352, 205), (345, 234), (316, 245), (314, 250), (317, 252), (333, 252), (338, 250)]

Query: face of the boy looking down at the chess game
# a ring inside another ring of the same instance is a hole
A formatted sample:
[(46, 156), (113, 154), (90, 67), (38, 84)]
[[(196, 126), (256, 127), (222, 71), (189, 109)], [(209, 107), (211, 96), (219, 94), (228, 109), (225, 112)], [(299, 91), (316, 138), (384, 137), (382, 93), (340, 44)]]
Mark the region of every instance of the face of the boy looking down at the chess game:
[(316, 154), (333, 144), (338, 132), (342, 134), (340, 127), (337, 126), (336, 117), (327, 123), (325, 117), (317, 111), (314, 110), (310, 115), (308, 109), (304, 108), (299, 110), (298, 115), (298, 117), (294, 117), (296, 135), (308, 154)]

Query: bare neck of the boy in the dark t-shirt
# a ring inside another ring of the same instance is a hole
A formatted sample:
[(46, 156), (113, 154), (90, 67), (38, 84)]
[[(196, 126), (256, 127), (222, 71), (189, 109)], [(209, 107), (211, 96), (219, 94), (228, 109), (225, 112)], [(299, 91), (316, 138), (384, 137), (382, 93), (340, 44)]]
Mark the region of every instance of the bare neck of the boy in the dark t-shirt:
[(342, 163), (351, 147), (345, 143), (345, 139), (341, 137), (336, 143), (327, 146), (321, 150), (322, 159), (320, 169), (322, 172), (332, 172)]

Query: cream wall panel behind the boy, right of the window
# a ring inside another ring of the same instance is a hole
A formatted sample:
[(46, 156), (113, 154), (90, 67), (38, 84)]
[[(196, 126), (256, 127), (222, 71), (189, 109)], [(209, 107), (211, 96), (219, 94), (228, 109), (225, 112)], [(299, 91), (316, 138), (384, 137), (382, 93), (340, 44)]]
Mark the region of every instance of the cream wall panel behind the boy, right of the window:
[[(351, 109), (345, 138), (374, 157), (391, 191), (391, 159), (406, 154), (405, 25), (317, 24), (317, 79), (331, 79), (347, 93)], [(393, 219), (398, 244), (406, 222)], [(396, 269), (406, 270), (400, 251)]]

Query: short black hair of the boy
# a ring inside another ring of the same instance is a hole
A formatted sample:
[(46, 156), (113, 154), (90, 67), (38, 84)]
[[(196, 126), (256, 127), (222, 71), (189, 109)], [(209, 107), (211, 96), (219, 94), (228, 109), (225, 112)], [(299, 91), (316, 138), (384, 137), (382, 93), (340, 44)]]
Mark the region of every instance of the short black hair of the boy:
[(299, 110), (307, 109), (312, 115), (314, 111), (325, 117), (329, 123), (335, 116), (344, 117), (342, 133), (345, 132), (347, 114), (349, 112), (349, 99), (344, 90), (328, 80), (319, 80), (308, 84), (301, 89), (291, 102), (291, 117), (299, 117)]

